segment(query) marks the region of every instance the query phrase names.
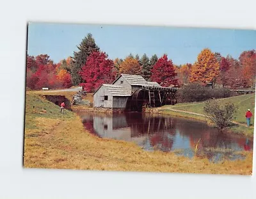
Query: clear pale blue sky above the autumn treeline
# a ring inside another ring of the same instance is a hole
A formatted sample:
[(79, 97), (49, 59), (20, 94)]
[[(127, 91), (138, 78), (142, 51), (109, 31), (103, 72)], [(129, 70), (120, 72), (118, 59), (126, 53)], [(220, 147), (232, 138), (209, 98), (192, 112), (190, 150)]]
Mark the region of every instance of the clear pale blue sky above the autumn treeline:
[(109, 58), (167, 54), (176, 65), (195, 63), (204, 48), (238, 59), (256, 49), (256, 31), (241, 29), (173, 28), (164, 26), (116, 26), (106, 24), (28, 24), (28, 54), (48, 54), (54, 63), (73, 56), (84, 36), (92, 33)]

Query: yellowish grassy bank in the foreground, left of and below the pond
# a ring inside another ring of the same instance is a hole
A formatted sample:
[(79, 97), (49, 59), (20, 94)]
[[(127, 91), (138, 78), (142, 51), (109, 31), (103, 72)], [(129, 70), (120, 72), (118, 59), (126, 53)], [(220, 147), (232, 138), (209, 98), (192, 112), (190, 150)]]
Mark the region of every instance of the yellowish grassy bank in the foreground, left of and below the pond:
[(166, 152), (145, 152), (134, 143), (102, 139), (83, 127), (79, 116), (28, 92), (24, 167), (115, 171), (252, 174), (252, 152), (243, 161), (213, 164)]

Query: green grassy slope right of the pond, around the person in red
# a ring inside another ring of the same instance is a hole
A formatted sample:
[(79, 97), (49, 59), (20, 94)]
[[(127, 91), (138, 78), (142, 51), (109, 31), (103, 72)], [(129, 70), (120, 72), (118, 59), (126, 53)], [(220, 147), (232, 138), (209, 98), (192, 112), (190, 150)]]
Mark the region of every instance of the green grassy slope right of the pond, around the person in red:
[[(239, 95), (236, 97), (229, 97), (226, 99), (219, 99), (219, 102), (221, 104), (225, 104), (226, 102), (232, 102), (237, 107), (236, 113), (234, 115), (234, 122), (241, 123), (242, 125), (246, 125), (245, 120), (245, 113), (247, 109), (250, 109), (255, 114), (255, 94), (249, 94), (249, 95)], [(158, 110), (164, 111), (165, 113), (169, 113), (170, 115), (175, 116), (184, 116), (187, 118), (195, 118), (196, 120), (204, 120), (208, 121), (207, 118), (204, 116), (198, 116), (198, 115), (191, 115), (189, 113), (181, 113), (181, 112), (174, 112), (170, 109), (180, 110), (180, 111), (188, 111), (192, 113), (198, 113), (205, 115), (204, 113), (204, 102), (198, 102), (198, 103), (181, 103), (181, 104), (175, 104), (174, 106), (163, 106), (161, 108), (158, 108)], [(170, 108), (170, 109), (169, 109)], [(209, 121), (208, 121), (209, 122)], [(230, 127), (230, 129), (234, 132), (244, 132), (244, 134), (253, 134), (253, 123), (254, 123), (254, 116), (251, 120), (251, 128), (244, 127), (241, 125), (234, 125)]]

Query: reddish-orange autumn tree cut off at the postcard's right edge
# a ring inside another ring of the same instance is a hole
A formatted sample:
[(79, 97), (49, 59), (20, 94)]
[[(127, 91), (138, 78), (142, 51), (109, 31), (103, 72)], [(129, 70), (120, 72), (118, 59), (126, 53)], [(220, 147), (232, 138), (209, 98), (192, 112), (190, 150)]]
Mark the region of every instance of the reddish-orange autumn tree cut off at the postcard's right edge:
[(254, 88), (256, 76), (256, 52), (244, 51), (239, 56), (239, 61), (243, 67), (243, 76), (247, 81), (248, 86)]

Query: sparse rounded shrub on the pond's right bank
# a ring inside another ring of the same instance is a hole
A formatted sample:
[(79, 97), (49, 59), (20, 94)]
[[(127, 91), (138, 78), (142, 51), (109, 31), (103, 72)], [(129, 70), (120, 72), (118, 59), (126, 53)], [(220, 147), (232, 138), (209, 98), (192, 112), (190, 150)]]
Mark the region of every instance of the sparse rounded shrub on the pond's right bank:
[(208, 100), (205, 102), (204, 111), (218, 129), (222, 130), (232, 122), (236, 106), (230, 102), (221, 105), (217, 100)]

